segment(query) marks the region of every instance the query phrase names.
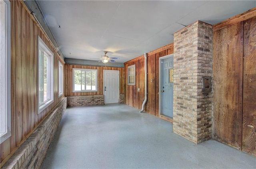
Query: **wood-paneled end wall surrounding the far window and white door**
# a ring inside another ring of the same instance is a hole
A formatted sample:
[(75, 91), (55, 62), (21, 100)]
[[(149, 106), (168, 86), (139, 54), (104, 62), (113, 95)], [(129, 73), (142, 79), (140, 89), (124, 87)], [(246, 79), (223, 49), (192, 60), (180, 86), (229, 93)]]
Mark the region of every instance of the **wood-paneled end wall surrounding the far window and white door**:
[[(73, 92), (72, 69), (97, 69), (98, 70), (98, 91), (94, 92)], [(103, 70), (119, 70), (119, 93), (124, 94), (124, 68), (105, 67), (105, 66), (84, 66), (65, 64), (65, 96), (71, 95), (103, 95)]]

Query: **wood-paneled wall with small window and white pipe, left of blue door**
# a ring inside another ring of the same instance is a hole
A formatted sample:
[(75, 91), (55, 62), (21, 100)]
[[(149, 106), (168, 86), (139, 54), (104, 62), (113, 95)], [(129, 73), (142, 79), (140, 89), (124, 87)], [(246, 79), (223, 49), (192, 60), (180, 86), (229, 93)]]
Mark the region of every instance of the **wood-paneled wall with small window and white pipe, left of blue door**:
[[(147, 53), (148, 64), (148, 101), (145, 106), (145, 111), (152, 115), (159, 114), (159, 58), (173, 54), (173, 43), (153, 50)], [(127, 68), (135, 65), (135, 85), (128, 85)], [(125, 72), (125, 103), (137, 109), (142, 108), (142, 103), (145, 97), (145, 70), (144, 70), (144, 55), (124, 63)], [(151, 82), (152, 80), (152, 82)], [(138, 92), (138, 88), (140, 91)]]

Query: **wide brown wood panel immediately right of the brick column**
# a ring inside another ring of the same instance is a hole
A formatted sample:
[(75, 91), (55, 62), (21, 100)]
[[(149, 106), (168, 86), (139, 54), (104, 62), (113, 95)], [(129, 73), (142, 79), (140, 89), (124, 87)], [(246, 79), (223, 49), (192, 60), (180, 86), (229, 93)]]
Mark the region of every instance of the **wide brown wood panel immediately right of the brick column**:
[(213, 44), (214, 138), (241, 149), (243, 22), (214, 32)]

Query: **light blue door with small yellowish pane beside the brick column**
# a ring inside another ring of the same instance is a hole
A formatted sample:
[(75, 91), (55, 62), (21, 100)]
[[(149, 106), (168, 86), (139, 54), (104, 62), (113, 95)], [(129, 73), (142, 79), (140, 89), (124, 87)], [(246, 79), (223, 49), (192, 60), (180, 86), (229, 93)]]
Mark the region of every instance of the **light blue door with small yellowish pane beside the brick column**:
[(160, 114), (173, 117), (173, 56), (160, 60), (162, 82)]

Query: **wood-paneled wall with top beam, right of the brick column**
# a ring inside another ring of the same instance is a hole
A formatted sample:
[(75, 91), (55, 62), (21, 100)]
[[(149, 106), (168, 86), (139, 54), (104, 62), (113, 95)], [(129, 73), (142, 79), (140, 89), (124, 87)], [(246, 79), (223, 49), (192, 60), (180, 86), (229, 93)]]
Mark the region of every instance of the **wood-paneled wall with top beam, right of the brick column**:
[(256, 8), (213, 28), (213, 136), (256, 155)]

